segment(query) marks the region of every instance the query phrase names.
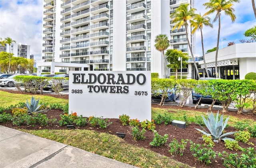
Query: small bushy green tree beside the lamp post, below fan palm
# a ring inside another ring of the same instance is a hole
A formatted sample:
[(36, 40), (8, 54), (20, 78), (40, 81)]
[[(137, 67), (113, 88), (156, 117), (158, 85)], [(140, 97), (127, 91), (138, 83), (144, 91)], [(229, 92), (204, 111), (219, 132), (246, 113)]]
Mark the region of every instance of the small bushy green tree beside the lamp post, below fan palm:
[[(181, 63), (178, 61), (179, 57), (182, 58), (182, 68), (185, 68), (188, 64), (188, 53), (182, 53), (182, 51), (178, 51), (177, 49), (168, 49), (165, 53), (166, 59), (168, 61), (167, 67), (172, 68), (173, 72), (176, 72), (175, 78), (178, 78), (178, 68), (181, 68)], [(175, 71), (174, 71), (175, 70)]]

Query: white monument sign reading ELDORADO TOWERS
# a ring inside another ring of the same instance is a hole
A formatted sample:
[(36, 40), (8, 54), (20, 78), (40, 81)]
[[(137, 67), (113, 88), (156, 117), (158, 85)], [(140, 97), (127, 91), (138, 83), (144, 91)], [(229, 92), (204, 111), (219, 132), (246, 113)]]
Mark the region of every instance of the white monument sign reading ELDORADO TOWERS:
[(70, 71), (69, 113), (151, 120), (150, 71)]

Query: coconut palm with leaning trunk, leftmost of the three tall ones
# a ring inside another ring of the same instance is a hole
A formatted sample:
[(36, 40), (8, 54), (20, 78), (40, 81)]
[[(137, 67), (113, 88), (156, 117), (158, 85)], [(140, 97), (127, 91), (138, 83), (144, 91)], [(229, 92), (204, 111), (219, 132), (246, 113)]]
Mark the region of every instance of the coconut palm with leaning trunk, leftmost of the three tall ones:
[(174, 18), (172, 20), (172, 23), (176, 23), (176, 25), (173, 27), (172, 31), (174, 29), (176, 29), (176, 27), (178, 27), (178, 29), (180, 29), (180, 27), (182, 25), (185, 26), (185, 30), (186, 30), (186, 37), (187, 37), (187, 41), (188, 41), (188, 47), (190, 49), (190, 53), (191, 53), (191, 56), (192, 56), (192, 59), (193, 59), (193, 62), (194, 62), (194, 66), (196, 68), (196, 74), (198, 76), (198, 78), (200, 78), (200, 75), (199, 75), (199, 72), (198, 72), (198, 68), (197, 68), (197, 65), (196, 65), (196, 61), (194, 59), (194, 55), (193, 55), (193, 52), (192, 52), (192, 47), (191, 47), (191, 44), (190, 44), (190, 39), (188, 38), (188, 20), (191, 20), (195, 13), (194, 11), (196, 10), (195, 8), (191, 8), (190, 10), (188, 10), (188, 6), (189, 4), (181, 4), (177, 9), (176, 9), (176, 12), (170, 14), (170, 18)]

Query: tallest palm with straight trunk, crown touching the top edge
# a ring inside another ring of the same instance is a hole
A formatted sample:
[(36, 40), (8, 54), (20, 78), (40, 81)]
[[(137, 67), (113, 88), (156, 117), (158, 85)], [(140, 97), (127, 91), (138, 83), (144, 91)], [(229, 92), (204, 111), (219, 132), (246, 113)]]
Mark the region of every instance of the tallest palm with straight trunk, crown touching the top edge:
[(220, 15), (221, 15), (220, 12), (223, 10), (224, 14), (227, 16), (230, 16), (232, 22), (234, 22), (236, 20), (236, 15), (233, 13), (235, 11), (233, 8), (234, 2), (239, 2), (239, 0), (210, 0), (210, 2), (206, 2), (203, 4), (205, 6), (205, 9), (210, 9), (204, 15), (209, 15), (216, 12), (216, 16), (213, 22), (215, 22), (216, 20), (219, 21), (218, 39), (217, 39), (216, 55), (215, 55), (215, 75), (218, 72), (217, 58), (218, 58), (219, 41), (220, 41)]

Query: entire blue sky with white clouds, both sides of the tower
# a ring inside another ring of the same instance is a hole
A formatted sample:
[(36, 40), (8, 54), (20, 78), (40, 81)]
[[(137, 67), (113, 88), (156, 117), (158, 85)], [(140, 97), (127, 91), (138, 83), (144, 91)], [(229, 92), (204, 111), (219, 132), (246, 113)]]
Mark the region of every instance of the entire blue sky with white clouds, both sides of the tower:
[[(207, 11), (202, 5), (205, 2), (208, 0), (195, 0), (197, 14)], [(30, 54), (34, 55), (36, 62), (40, 62), (42, 56), (42, 6), (43, 0), (0, 0), (0, 37), (10, 37), (16, 43), (30, 45)], [(234, 23), (222, 12), (220, 39), (223, 40), (220, 40), (219, 48), (226, 47), (229, 42), (240, 43), (241, 39), (250, 39), (244, 36), (244, 32), (256, 25), (251, 0), (240, 0), (240, 3), (234, 4), (234, 8)], [(213, 20), (215, 15), (209, 17)], [(217, 44), (218, 21), (213, 26), (203, 28), (205, 52)], [(195, 54), (202, 56), (200, 31), (196, 32)]]

